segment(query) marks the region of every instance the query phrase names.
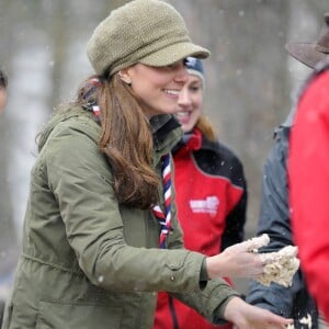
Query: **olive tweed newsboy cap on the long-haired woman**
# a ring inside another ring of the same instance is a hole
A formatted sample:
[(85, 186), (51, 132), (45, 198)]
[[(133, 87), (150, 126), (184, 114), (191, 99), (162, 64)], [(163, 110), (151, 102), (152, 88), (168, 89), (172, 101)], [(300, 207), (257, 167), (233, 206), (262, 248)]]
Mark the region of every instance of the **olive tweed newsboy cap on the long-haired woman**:
[(167, 66), (209, 52), (191, 42), (183, 18), (164, 1), (134, 0), (113, 10), (87, 45), (98, 75), (113, 73), (136, 63)]

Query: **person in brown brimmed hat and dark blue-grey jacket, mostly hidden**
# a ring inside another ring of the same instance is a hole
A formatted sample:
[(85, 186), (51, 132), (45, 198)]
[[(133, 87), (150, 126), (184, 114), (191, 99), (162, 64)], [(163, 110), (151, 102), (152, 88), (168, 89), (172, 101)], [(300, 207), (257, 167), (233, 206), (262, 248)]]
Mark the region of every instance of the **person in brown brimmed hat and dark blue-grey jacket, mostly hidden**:
[[(318, 41), (313, 43), (288, 42), (287, 53), (310, 68), (316, 68), (329, 55), (329, 13)], [(262, 252), (277, 251), (294, 245), (288, 205), (287, 168), (290, 135), (297, 106), (294, 105), (286, 121), (274, 133), (274, 145), (263, 169), (262, 193), (257, 235), (268, 234), (271, 241)], [(302, 269), (290, 287), (277, 284), (264, 286), (251, 281), (247, 302), (275, 314), (294, 318), (295, 328), (329, 328), (318, 315), (317, 306), (308, 292)], [(306, 321), (306, 322), (305, 322)]]

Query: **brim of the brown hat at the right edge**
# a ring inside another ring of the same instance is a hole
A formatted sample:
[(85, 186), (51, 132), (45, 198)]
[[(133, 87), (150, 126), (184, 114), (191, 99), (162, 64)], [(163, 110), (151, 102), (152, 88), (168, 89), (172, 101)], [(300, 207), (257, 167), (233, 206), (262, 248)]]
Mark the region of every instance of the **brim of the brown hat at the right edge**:
[(317, 50), (316, 45), (316, 43), (287, 43), (285, 49), (295, 59), (310, 68), (315, 68), (320, 60), (329, 55)]

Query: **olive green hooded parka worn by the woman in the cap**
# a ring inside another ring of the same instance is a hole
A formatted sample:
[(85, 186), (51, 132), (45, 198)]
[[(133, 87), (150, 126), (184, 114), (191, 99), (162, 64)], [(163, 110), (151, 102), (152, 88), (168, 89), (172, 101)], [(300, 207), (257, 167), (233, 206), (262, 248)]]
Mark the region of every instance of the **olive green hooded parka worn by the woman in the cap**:
[[(160, 157), (181, 129), (168, 115), (152, 127), (160, 174)], [(55, 115), (41, 136), (2, 329), (147, 329), (158, 291), (209, 320), (220, 317), (237, 293), (220, 280), (200, 281), (204, 256), (182, 249), (174, 205), (162, 250), (151, 211), (117, 203), (111, 167), (98, 147), (100, 132), (91, 113), (75, 107)]]

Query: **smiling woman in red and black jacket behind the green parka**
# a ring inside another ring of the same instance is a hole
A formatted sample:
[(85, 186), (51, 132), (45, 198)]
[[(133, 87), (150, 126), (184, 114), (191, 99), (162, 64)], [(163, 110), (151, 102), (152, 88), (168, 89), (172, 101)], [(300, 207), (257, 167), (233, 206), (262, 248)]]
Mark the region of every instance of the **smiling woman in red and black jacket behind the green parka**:
[[(243, 240), (247, 183), (237, 156), (217, 141), (203, 114), (204, 69), (188, 57), (189, 80), (180, 92), (177, 114), (184, 132), (173, 149), (178, 218), (185, 248), (214, 256)], [(209, 324), (194, 309), (160, 293), (155, 329), (231, 328)]]

